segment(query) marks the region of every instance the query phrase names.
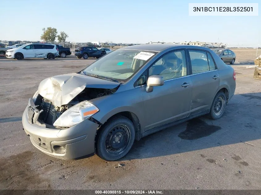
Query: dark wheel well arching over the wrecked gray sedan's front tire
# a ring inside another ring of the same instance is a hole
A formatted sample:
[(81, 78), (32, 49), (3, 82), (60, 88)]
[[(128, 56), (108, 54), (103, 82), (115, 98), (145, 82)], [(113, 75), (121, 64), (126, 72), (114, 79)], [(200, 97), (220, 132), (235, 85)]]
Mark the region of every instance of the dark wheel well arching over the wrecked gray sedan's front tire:
[[(131, 120), (133, 122), (134, 127), (135, 127), (135, 140), (140, 140), (141, 139), (141, 124), (140, 124), (140, 121), (139, 121), (139, 118), (137, 117), (137, 115), (134, 114), (133, 112), (128, 112), (128, 111), (119, 112), (119, 113), (111, 116), (107, 121), (109, 121), (110, 119), (117, 117), (117, 116), (125, 116), (126, 118), (128, 118), (129, 120)], [(106, 124), (106, 122), (104, 124)]]

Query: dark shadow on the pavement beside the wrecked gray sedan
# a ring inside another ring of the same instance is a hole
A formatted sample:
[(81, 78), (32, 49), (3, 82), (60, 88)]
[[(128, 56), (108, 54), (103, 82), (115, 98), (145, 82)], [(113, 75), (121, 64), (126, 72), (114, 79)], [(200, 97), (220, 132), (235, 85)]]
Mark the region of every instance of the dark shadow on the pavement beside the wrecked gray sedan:
[(261, 93), (237, 94), (219, 120), (206, 116), (135, 141), (121, 160), (151, 158), (261, 139)]

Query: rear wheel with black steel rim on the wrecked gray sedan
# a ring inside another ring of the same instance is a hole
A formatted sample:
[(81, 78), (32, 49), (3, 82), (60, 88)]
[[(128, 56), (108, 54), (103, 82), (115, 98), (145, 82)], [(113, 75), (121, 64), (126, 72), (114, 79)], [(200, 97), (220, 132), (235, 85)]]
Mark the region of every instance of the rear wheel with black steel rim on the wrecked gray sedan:
[(215, 96), (210, 113), (208, 114), (210, 119), (217, 120), (223, 115), (227, 104), (227, 97), (223, 91), (219, 91)]

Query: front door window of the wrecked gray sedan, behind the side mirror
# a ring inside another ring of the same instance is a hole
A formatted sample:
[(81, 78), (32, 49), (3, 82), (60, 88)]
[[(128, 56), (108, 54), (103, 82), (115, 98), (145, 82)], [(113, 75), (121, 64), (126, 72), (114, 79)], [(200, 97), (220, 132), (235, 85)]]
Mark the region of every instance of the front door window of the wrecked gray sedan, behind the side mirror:
[(149, 68), (149, 76), (160, 75), (164, 80), (187, 75), (186, 55), (184, 50), (170, 52), (158, 59)]

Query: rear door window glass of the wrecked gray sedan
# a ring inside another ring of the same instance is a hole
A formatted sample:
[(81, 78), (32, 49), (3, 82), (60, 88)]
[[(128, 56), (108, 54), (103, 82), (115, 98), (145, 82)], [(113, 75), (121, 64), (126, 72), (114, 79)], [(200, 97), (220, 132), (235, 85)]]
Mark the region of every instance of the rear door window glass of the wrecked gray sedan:
[(189, 51), (192, 74), (209, 71), (207, 52), (205, 51)]

